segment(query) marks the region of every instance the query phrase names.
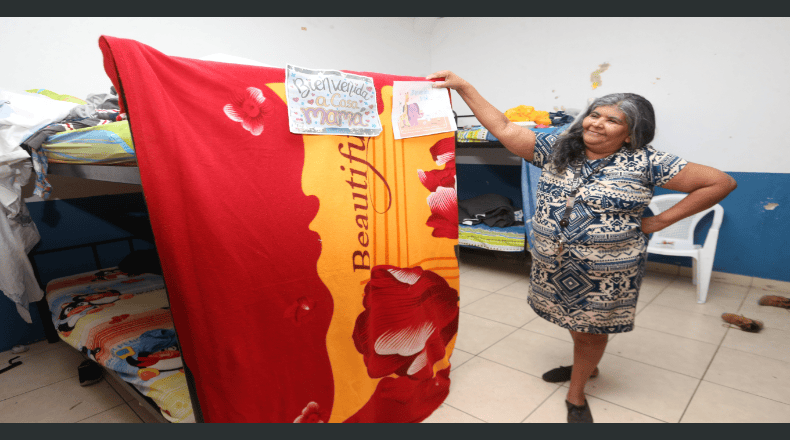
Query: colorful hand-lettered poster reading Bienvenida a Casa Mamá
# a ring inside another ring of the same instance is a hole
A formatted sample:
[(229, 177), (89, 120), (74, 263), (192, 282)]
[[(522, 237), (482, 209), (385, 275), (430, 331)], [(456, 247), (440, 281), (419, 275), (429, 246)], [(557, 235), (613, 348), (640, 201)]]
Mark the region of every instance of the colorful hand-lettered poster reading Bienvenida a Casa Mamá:
[(287, 65), (291, 133), (373, 137), (381, 133), (373, 78)]

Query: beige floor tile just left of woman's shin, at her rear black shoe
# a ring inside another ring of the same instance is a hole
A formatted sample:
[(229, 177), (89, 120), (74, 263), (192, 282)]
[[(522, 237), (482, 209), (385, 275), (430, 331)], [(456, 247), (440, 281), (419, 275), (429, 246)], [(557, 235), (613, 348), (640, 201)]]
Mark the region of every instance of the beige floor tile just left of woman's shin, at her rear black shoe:
[(573, 364), (573, 344), (549, 336), (518, 330), (479, 354), (535, 377), (561, 365)]

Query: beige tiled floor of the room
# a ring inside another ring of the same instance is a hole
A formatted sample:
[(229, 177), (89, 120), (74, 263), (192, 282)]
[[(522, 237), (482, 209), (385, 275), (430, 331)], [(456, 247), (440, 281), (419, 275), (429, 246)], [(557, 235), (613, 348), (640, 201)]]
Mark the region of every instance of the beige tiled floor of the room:
[[(572, 363), (570, 335), (527, 306), (528, 278), (522, 263), (462, 254), (450, 395), (426, 422), (565, 422), (567, 384), (540, 376)], [(767, 289), (790, 296), (790, 283), (718, 277), (697, 304), (690, 278), (648, 272), (636, 330), (610, 338), (588, 383), (596, 422), (790, 422), (790, 311), (757, 305)], [(727, 328), (723, 312), (765, 328)], [(81, 387), (82, 357), (62, 342), (19, 356), (0, 375), (0, 422), (155, 421), (112, 380)]]

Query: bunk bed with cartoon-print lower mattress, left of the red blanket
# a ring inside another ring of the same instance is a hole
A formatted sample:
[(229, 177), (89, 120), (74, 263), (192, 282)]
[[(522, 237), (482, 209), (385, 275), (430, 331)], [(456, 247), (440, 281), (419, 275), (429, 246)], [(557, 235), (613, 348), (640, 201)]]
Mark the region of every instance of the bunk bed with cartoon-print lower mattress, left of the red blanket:
[[(49, 136), (33, 159), (39, 164), (37, 183), (47, 186), (48, 175), (141, 184), (125, 120)], [(37, 303), (39, 315), (50, 343), (62, 340), (100, 365), (103, 374), (133, 396), (154, 420), (194, 422), (200, 417), (199, 406), (181, 360), (164, 278), (161, 269), (159, 273), (146, 270), (159, 261), (155, 251), (135, 249), (134, 241), (139, 238), (130, 235), (91, 243), (65, 240), (65, 246), (36, 246), (29, 258), (45, 291)], [(144, 240), (153, 245), (152, 236), (146, 234)], [(105, 267), (99, 249), (124, 242), (128, 256), (118, 266)], [(91, 250), (94, 270), (44, 282), (37, 258), (80, 248)]]

